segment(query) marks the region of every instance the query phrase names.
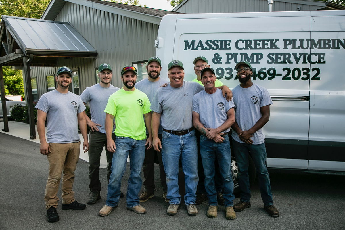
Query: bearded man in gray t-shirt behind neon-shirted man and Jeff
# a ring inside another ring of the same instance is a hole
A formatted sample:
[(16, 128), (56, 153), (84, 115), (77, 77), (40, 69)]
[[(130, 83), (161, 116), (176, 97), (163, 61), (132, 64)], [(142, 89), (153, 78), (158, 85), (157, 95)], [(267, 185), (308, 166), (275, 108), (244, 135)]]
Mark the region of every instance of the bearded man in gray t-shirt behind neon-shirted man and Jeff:
[[(159, 77), (160, 71), (162, 70), (161, 61), (157, 57), (151, 57), (146, 66), (148, 78), (142, 79), (138, 83), (136, 83), (135, 88), (144, 92), (147, 97), (149, 98), (150, 102), (152, 102), (153, 97), (155, 96), (156, 91), (159, 87), (164, 84), (168, 83), (167, 80), (162, 79)], [(162, 126), (159, 126), (158, 129), (158, 137), (162, 140)], [(146, 135), (148, 136), (148, 131), (146, 130)], [(166, 174), (164, 171), (164, 166), (162, 162), (162, 154), (161, 152), (156, 151), (154, 148), (147, 149), (145, 152), (145, 160), (143, 165), (144, 170), (144, 181), (142, 182), (144, 186), (144, 191), (139, 196), (140, 202), (145, 202), (148, 199), (154, 197), (154, 190), (155, 190), (155, 168), (154, 168), (154, 159), (157, 155), (158, 163), (159, 163), (159, 171), (160, 171), (160, 184), (163, 188), (163, 197), (165, 198), (166, 202), (169, 200), (166, 198), (167, 195), (167, 184), (166, 184)]]

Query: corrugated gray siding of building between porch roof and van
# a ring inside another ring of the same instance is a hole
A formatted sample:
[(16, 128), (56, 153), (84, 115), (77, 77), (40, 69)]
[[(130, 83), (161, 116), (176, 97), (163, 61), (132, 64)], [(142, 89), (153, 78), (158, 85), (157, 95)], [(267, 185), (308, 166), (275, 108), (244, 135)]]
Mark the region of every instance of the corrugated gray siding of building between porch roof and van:
[[(89, 58), (59, 58), (57, 66), (79, 68), (81, 92), (96, 83), (95, 68), (102, 63), (111, 65), (114, 72), (112, 84), (122, 87), (120, 79), (121, 68), (134, 61), (147, 60), (154, 56), (156, 48), (154, 41), (157, 39), (158, 25), (141, 20), (120, 16), (79, 4), (66, 2), (56, 21), (70, 22), (71, 25), (85, 38), (98, 52), (96, 59)], [(47, 91), (46, 75), (55, 73), (35, 67), (31, 76), (38, 76), (37, 84), (39, 97)], [(49, 73), (45, 72), (48, 71)], [(44, 90), (42, 90), (44, 89)]]

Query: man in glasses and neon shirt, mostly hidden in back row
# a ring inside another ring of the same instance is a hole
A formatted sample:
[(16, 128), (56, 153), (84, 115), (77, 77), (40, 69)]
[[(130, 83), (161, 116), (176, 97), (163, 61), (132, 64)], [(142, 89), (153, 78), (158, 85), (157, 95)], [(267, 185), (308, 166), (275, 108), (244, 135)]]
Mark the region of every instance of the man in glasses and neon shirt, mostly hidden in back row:
[[(193, 61), (194, 64), (194, 71), (196, 74), (196, 79), (194, 79), (194, 82), (198, 82), (199, 84), (203, 85), (201, 82), (201, 71), (205, 68), (210, 68), (210, 65), (208, 64), (208, 61), (205, 57), (199, 56), (196, 57)], [(220, 80), (217, 80), (215, 82), (215, 87), (223, 86), (223, 83), (221, 83)], [(200, 132), (198, 130), (196, 132), (196, 138), (198, 143), (198, 176), (199, 176), (199, 183), (198, 183), (198, 193), (196, 195), (196, 204), (202, 204), (205, 200), (207, 200), (206, 196), (206, 189), (205, 189), (205, 174), (204, 174), (204, 168), (203, 163), (201, 161), (201, 155), (200, 155), (200, 147), (199, 147), (199, 141), (200, 141)], [(218, 166), (218, 160), (217, 157), (215, 159), (215, 187), (217, 190), (217, 202), (220, 205), (225, 204), (225, 199), (223, 198), (223, 178), (221, 177), (219, 166)]]

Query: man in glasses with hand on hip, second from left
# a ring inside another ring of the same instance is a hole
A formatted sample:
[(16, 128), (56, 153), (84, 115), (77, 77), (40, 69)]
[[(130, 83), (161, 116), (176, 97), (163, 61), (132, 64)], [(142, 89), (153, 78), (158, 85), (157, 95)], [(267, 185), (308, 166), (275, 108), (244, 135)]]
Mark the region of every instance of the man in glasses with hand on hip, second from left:
[[(106, 148), (107, 157), (107, 180), (109, 183), (111, 173), (111, 161), (113, 152), (107, 150), (107, 136), (105, 129), (107, 101), (111, 94), (115, 93), (119, 88), (110, 84), (112, 77), (111, 66), (103, 63), (98, 68), (98, 77), (100, 82), (91, 87), (87, 87), (80, 95), (84, 104), (90, 104), (91, 120), (84, 112), (84, 117), (88, 126), (91, 128), (89, 135), (89, 188), (90, 199), (88, 204), (95, 204), (101, 199), (101, 181), (99, 180), (99, 166), (103, 148)], [(115, 140), (115, 128), (112, 130), (112, 139)], [(123, 196), (123, 193), (121, 194)]]

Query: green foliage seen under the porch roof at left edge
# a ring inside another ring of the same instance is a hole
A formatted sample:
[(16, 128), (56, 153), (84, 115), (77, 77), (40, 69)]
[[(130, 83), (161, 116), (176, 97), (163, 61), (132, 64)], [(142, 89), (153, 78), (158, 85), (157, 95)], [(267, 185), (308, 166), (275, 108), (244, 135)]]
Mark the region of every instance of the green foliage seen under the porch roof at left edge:
[(11, 67), (3, 66), (3, 81), (5, 95), (21, 95), (24, 99), (24, 83), (21, 70), (13, 70)]

